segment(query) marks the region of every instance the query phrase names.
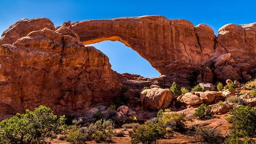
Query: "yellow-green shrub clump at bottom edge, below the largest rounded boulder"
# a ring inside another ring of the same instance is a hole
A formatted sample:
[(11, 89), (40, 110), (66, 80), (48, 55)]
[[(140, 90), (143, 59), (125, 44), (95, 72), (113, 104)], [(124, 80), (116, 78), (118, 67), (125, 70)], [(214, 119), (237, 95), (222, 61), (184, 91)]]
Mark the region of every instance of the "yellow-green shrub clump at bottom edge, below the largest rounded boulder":
[(130, 131), (132, 143), (155, 143), (157, 139), (169, 138), (174, 131), (183, 129), (184, 121), (184, 114), (161, 110), (158, 112), (157, 118), (148, 120), (143, 125), (133, 127), (133, 131)]

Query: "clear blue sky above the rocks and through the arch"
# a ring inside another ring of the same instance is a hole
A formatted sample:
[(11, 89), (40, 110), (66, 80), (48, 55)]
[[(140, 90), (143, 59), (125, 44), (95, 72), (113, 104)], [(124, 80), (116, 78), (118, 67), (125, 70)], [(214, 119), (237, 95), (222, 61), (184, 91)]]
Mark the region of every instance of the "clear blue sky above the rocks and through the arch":
[[(0, 33), (20, 18), (48, 17), (55, 26), (65, 21), (116, 18), (125, 16), (163, 15), (169, 19), (187, 19), (197, 25), (210, 25), (217, 34), (227, 23), (256, 22), (256, 1), (0, 1)], [(112, 68), (145, 77), (159, 73), (131, 48), (120, 42), (94, 44), (109, 56)]]

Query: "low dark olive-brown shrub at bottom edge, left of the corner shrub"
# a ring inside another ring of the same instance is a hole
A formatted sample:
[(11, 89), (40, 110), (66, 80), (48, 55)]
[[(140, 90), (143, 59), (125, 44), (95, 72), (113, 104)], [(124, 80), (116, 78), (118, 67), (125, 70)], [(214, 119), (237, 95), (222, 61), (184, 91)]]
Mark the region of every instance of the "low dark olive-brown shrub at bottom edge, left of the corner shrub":
[(195, 138), (203, 143), (221, 143), (224, 138), (216, 129), (197, 127)]

